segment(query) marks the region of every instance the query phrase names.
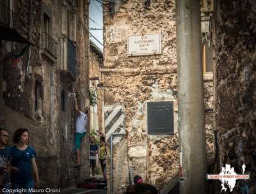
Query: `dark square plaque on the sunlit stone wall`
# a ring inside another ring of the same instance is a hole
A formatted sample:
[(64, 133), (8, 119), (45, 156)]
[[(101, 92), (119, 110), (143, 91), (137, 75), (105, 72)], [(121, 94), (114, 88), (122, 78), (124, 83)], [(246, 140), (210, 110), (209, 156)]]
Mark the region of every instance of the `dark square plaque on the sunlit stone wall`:
[(173, 101), (148, 102), (148, 134), (174, 134)]

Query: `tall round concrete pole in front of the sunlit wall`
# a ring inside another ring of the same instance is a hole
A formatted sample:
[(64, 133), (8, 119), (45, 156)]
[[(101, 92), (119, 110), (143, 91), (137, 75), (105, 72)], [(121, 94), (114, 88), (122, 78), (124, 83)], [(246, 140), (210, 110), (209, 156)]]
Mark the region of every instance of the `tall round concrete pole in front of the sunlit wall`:
[(176, 1), (180, 193), (205, 194), (205, 124), (200, 0)]

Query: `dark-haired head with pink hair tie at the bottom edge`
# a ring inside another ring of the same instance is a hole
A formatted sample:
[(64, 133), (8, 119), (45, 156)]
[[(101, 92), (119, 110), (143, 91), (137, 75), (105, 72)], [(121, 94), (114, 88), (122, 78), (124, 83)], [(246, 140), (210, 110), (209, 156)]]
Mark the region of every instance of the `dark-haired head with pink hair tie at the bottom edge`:
[(153, 185), (143, 183), (140, 175), (135, 175), (134, 184), (127, 187), (126, 194), (158, 194), (158, 191)]

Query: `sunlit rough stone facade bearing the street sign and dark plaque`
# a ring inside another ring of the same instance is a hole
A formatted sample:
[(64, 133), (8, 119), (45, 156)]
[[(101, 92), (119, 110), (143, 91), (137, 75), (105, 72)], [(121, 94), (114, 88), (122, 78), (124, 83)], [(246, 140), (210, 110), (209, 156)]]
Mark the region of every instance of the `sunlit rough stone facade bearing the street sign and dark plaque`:
[[(128, 183), (128, 163), (161, 189), (179, 174), (175, 1), (116, 1), (114, 10), (104, 11), (104, 106), (124, 106), (128, 132), (114, 146), (114, 193)], [(127, 36), (150, 33), (161, 33), (162, 54), (128, 57)], [(214, 158), (212, 94), (212, 79), (205, 79), (208, 163)], [(153, 101), (173, 101), (173, 135), (148, 135), (147, 103)], [(128, 158), (120, 154), (126, 149)]]

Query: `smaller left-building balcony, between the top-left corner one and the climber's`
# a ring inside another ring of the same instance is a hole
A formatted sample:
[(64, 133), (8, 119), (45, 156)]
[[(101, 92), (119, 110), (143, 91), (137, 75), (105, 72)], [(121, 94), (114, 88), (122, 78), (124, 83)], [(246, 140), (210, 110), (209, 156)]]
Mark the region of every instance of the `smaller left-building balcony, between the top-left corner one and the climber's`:
[(48, 33), (42, 33), (41, 54), (56, 63), (58, 43)]

